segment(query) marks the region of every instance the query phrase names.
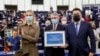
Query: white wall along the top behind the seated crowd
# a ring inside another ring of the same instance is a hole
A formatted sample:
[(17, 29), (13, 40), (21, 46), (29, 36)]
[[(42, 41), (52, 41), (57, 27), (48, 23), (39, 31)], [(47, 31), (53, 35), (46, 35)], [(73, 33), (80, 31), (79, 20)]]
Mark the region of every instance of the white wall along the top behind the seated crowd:
[(21, 11), (49, 11), (50, 6), (56, 11), (59, 5), (68, 5), (69, 10), (72, 10), (75, 7), (82, 9), (82, 5), (85, 4), (100, 4), (100, 0), (44, 0), (43, 5), (32, 5), (31, 0), (0, 0), (0, 10), (4, 10), (4, 5), (17, 5)]

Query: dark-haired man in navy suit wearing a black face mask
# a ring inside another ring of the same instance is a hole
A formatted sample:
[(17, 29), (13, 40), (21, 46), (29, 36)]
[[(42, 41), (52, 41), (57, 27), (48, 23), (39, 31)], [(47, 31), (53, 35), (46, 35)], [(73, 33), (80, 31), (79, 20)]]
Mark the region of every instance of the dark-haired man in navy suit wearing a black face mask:
[[(89, 23), (82, 21), (79, 8), (72, 11), (73, 22), (66, 27), (66, 40), (69, 43), (69, 56), (93, 56), (95, 53), (95, 37)], [(90, 38), (90, 46), (88, 44)]]

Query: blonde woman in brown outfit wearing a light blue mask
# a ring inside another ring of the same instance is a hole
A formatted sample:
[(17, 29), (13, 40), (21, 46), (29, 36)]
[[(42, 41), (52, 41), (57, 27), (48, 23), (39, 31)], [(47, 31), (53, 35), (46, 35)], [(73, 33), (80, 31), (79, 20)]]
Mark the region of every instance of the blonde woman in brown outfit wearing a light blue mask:
[(36, 43), (38, 41), (40, 28), (35, 23), (35, 14), (28, 10), (25, 13), (25, 21), (19, 25), (22, 35), (22, 55), (39, 56)]

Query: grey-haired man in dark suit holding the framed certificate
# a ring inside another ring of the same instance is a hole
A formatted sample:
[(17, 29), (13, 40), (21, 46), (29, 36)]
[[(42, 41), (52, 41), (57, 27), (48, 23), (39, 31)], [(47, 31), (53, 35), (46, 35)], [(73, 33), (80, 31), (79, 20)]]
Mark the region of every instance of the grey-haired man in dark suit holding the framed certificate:
[[(51, 13), (51, 25), (45, 28), (45, 31), (63, 31), (65, 29), (64, 26), (59, 24), (59, 16), (57, 13)], [(45, 56), (64, 56), (64, 48), (65, 46), (57, 46), (57, 47), (45, 47)]]

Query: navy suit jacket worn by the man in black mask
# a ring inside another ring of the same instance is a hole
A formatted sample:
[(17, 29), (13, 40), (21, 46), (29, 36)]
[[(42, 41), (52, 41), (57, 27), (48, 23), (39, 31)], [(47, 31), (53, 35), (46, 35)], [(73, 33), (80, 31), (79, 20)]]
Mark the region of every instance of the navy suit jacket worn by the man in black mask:
[[(88, 44), (88, 36), (90, 37), (90, 46)], [(95, 37), (92, 27), (89, 23), (81, 21), (79, 33), (76, 36), (74, 22), (66, 27), (66, 38), (69, 43), (69, 56), (75, 56), (76, 49), (79, 50), (81, 55), (88, 54), (89, 52), (95, 53)]]

